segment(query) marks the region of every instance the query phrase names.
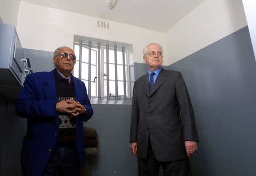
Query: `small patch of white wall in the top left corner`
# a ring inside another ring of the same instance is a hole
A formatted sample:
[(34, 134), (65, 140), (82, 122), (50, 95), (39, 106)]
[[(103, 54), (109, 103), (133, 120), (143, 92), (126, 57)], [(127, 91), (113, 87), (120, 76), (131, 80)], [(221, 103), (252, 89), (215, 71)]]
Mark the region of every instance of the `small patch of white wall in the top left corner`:
[(1, 0), (0, 17), (3, 23), (13, 24), (16, 26), (18, 21), (20, 0)]

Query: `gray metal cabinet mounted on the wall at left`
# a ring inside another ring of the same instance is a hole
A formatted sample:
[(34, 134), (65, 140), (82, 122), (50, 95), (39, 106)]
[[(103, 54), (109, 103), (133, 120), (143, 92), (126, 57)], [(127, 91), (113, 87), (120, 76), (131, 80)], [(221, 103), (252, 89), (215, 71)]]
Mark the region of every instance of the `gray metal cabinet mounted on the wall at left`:
[(28, 72), (14, 25), (0, 23), (0, 93), (6, 98), (15, 98)]

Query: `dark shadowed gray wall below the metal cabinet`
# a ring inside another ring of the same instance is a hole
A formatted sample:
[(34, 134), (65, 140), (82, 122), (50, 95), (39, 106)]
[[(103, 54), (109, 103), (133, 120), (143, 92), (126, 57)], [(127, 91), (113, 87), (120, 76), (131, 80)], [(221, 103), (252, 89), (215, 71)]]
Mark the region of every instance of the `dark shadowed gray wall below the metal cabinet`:
[(20, 152), (26, 119), (14, 113), (13, 101), (0, 95), (0, 175), (21, 175)]

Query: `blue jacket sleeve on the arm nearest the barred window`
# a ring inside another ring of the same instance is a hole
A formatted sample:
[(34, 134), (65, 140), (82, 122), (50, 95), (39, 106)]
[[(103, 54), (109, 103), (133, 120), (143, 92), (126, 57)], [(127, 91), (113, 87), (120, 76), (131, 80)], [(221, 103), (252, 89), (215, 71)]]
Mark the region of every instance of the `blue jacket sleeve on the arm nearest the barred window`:
[(86, 87), (84, 85), (84, 82), (82, 82), (82, 90), (84, 92), (84, 102), (82, 102), (82, 105), (85, 107), (86, 109), (86, 113), (82, 114), (82, 121), (86, 122), (88, 121), (90, 118), (92, 118), (93, 115), (93, 109), (92, 109), (92, 105), (90, 104), (90, 100), (89, 97), (87, 95), (87, 90)]

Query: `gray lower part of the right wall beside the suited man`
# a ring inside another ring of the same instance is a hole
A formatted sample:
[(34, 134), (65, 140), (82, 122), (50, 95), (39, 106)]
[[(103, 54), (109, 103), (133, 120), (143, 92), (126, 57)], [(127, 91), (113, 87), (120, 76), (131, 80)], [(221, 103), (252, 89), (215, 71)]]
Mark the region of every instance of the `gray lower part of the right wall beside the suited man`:
[(256, 64), (248, 28), (169, 68), (183, 74), (195, 110), (200, 143), (193, 175), (256, 175)]

